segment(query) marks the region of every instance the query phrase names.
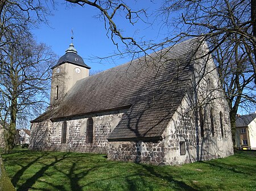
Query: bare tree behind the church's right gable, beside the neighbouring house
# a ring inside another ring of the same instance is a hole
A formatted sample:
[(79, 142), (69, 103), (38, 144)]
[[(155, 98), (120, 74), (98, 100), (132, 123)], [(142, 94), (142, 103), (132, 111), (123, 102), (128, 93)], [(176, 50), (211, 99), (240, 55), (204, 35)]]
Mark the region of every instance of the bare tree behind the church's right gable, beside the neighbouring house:
[(225, 46), (218, 46), (216, 51), (213, 52), (218, 73), (221, 77), (221, 84), (225, 90), (226, 100), (230, 108), (233, 143), (236, 143), (236, 114), (238, 108), (244, 108), (250, 112), (250, 105), (256, 102), (253, 67), (250, 65), (247, 55), (241, 51), (241, 46), (237, 41), (239, 39), (234, 36), (232, 40), (225, 42)]

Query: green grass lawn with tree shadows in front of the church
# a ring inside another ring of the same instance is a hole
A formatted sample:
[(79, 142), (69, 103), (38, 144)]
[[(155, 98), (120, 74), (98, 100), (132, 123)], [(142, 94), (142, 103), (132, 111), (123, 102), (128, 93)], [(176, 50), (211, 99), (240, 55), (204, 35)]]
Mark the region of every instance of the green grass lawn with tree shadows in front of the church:
[(14, 150), (2, 155), (21, 190), (256, 190), (256, 152), (181, 166), (110, 162), (105, 155)]

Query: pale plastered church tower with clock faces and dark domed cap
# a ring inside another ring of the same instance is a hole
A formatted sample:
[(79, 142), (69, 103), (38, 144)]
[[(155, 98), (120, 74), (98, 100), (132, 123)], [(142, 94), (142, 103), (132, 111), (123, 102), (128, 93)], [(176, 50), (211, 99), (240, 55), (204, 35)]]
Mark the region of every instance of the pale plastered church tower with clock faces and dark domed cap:
[(52, 67), (50, 106), (57, 104), (77, 80), (89, 77), (89, 69), (71, 43), (65, 54)]

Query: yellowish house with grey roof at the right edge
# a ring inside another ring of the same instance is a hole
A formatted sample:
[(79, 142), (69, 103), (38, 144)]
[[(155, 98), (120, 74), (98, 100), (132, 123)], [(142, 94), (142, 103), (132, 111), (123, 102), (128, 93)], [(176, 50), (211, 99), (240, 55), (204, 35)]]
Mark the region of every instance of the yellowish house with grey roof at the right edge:
[(256, 149), (256, 113), (237, 116), (236, 147)]

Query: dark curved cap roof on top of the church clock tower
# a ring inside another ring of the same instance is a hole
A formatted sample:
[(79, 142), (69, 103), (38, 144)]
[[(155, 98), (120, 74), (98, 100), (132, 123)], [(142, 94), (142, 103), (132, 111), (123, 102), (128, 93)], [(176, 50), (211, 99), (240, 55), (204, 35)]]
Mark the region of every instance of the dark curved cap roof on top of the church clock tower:
[(84, 60), (82, 60), (82, 57), (79, 56), (79, 54), (77, 54), (77, 50), (74, 48), (73, 43), (69, 45), (69, 48), (65, 52), (66, 53), (60, 57), (59, 61), (55, 66), (52, 67), (52, 69), (65, 62), (73, 63), (74, 65), (82, 66), (82, 67), (86, 67), (87, 69), (90, 69), (90, 67), (84, 63)]

